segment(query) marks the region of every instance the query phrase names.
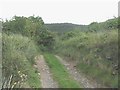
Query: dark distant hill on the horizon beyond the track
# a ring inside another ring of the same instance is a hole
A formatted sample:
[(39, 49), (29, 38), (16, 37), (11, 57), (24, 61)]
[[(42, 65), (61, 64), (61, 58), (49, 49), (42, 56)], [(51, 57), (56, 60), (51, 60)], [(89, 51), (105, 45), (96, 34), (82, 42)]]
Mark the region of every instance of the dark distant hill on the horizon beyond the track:
[(77, 25), (72, 23), (53, 23), (45, 24), (48, 30), (54, 32), (68, 32), (76, 29), (84, 30), (86, 25)]

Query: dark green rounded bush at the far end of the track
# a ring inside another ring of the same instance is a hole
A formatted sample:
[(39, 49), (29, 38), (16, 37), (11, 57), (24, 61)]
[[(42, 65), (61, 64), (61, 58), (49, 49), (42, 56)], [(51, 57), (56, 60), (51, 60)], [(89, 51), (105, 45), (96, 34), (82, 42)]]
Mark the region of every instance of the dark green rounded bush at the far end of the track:
[(36, 32), (38, 35), (35, 37), (35, 41), (40, 45), (42, 51), (51, 51), (54, 48), (55, 35), (48, 30), (41, 30)]

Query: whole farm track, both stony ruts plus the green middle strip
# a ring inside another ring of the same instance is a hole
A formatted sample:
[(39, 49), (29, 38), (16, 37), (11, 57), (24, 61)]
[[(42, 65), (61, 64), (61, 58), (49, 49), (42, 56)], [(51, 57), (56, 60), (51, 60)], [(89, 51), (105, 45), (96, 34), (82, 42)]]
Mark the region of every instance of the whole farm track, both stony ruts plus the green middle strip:
[[(45, 59), (44, 59), (45, 57)], [(100, 88), (95, 81), (88, 80), (75, 68), (75, 63), (67, 62), (61, 57), (44, 54), (36, 57), (36, 67), (40, 73), (43, 88)], [(47, 62), (47, 63), (46, 63)]]

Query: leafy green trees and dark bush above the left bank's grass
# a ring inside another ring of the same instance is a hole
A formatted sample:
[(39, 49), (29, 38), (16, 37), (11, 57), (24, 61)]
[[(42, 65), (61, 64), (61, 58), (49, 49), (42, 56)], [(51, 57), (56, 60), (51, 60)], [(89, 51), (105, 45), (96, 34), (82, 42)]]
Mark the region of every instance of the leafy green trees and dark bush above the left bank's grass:
[(45, 47), (47, 50), (53, 48), (54, 35), (44, 27), (44, 22), (41, 17), (19, 17), (14, 16), (11, 20), (3, 22), (3, 32), (6, 34), (22, 34), (31, 39), (34, 39), (40, 47)]

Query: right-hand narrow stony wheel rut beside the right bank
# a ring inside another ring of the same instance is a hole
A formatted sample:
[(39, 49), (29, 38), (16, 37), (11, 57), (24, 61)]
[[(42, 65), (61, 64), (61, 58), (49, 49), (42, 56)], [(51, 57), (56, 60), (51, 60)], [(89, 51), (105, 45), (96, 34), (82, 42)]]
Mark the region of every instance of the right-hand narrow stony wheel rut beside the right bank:
[(74, 67), (73, 63), (66, 62), (61, 57), (55, 55), (55, 57), (67, 68), (69, 74), (84, 88), (100, 88), (101, 85), (96, 82), (88, 80), (84, 75), (79, 73), (77, 69)]

